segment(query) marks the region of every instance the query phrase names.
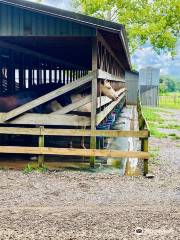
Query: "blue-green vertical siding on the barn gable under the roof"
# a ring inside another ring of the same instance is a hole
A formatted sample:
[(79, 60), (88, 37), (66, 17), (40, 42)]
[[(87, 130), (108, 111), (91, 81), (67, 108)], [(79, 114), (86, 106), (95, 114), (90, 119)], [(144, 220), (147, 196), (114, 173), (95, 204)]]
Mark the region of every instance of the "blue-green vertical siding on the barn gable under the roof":
[(96, 29), (0, 3), (0, 36), (95, 36)]

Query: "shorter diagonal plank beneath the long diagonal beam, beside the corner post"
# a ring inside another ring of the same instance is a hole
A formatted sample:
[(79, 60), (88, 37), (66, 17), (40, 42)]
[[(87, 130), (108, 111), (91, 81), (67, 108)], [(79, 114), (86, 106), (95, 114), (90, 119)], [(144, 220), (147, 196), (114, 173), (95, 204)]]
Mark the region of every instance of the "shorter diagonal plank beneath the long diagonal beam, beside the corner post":
[(50, 115), (66, 114), (68, 112), (71, 112), (71, 111), (79, 108), (79, 107), (82, 107), (82, 106), (86, 105), (87, 103), (90, 103), (91, 100), (92, 100), (91, 95), (87, 96), (87, 97), (84, 97), (83, 99), (81, 99), (81, 100), (79, 100), (75, 103), (69, 104), (68, 106), (63, 107), (62, 109), (57, 110), (56, 112), (50, 113)]

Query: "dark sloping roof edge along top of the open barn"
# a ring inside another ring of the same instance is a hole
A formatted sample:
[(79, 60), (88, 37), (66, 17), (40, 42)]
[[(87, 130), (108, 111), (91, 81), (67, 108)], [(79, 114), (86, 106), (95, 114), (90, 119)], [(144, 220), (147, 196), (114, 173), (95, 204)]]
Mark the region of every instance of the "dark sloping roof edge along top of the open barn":
[(111, 32), (112, 34), (114, 33), (118, 35), (119, 38), (121, 39), (129, 68), (131, 68), (126, 31), (124, 26), (121, 24), (24, 0), (0, 0), (0, 3), (4, 3), (10, 6), (16, 6), (21, 9), (26, 9), (36, 13), (45, 14), (55, 18), (72, 21), (75, 23), (79, 23), (81, 25), (92, 27), (94, 29)]

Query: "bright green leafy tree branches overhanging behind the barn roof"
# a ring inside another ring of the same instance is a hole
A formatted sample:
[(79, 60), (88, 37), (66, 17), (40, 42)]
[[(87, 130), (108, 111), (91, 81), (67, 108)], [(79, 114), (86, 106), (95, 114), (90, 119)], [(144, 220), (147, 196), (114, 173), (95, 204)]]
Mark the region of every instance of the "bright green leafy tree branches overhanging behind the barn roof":
[(149, 41), (157, 53), (175, 55), (179, 0), (74, 0), (74, 6), (85, 14), (124, 24), (131, 52)]

